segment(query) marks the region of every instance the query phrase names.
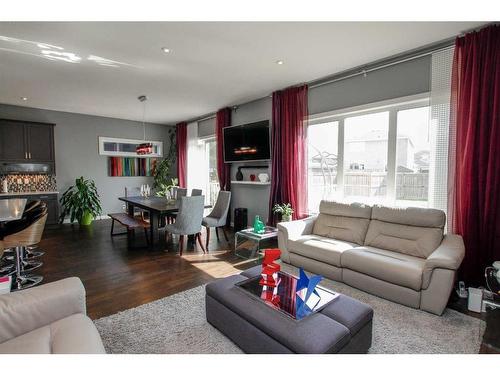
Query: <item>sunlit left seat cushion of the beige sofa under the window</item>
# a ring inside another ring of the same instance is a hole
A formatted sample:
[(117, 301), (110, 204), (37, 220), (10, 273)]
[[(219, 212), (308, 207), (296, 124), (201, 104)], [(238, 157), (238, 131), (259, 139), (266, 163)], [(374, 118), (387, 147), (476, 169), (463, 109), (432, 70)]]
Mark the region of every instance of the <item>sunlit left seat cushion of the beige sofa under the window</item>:
[(308, 234), (296, 240), (288, 240), (288, 251), (306, 258), (340, 267), (342, 252), (352, 249), (357, 244), (333, 238)]

